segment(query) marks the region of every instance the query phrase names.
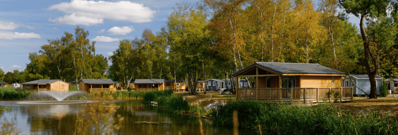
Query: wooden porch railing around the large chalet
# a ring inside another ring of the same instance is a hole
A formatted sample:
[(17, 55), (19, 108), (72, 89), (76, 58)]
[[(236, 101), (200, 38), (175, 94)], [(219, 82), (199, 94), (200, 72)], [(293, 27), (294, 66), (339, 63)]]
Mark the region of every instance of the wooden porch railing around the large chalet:
[(352, 87), (333, 88), (238, 88), (236, 99), (333, 102), (351, 101)]

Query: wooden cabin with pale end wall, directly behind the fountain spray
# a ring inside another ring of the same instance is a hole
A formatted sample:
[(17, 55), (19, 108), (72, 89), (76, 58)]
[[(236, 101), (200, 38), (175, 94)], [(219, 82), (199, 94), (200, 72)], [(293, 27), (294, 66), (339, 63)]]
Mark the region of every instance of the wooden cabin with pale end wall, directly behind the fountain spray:
[(69, 91), (69, 83), (60, 79), (38, 79), (21, 84), (20, 90)]

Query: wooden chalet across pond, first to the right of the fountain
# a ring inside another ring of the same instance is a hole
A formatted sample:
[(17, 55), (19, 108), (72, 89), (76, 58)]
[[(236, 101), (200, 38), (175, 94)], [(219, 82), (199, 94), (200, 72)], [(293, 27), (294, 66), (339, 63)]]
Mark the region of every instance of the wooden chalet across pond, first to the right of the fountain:
[(81, 79), (79, 90), (86, 92), (116, 91), (116, 84), (111, 79)]

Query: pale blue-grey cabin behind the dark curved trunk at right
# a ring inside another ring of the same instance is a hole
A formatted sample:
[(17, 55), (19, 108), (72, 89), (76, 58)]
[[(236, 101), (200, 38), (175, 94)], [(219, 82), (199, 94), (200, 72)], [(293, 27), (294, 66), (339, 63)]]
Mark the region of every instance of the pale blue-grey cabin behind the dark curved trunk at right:
[[(351, 74), (351, 79), (354, 83), (363, 91), (370, 93), (370, 80), (368, 74)], [(351, 81), (350, 77), (347, 75), (344, 77), (343, 84), (344, 87), (353, 87), (354, 95), (366, 95), (364, 92), (359, 90)], [(377, 94), (380, 94), (380, 86), (383, 83), (383, 77), (376, 75), (376, 88)]]

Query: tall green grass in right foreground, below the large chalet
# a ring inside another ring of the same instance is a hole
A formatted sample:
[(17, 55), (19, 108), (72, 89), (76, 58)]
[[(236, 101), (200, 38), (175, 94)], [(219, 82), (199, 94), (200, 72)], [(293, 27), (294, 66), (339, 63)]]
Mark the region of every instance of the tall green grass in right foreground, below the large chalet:
[(269, 134), (305, 135), (396, 135), (398, 116), (371, 111), (352, 115), (333, 104), (312, 107), (288, 104), (228, 101), (212, 112), (214, 124), (232, 127), (232, 112), (238, 111), (241, 127), (250, 127)]

